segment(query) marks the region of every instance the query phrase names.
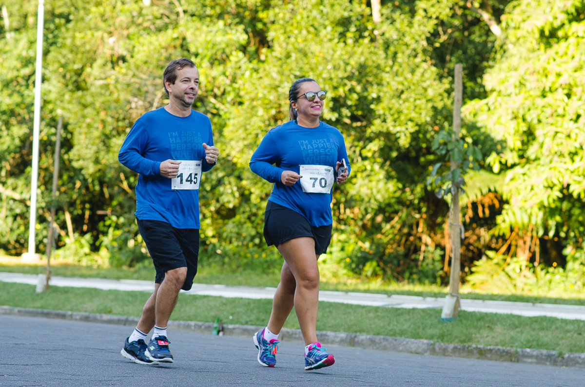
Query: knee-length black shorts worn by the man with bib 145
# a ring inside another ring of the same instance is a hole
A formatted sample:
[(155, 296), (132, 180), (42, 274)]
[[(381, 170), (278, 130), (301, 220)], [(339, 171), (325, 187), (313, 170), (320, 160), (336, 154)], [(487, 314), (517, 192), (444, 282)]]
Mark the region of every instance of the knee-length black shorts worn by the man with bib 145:
[(186, 267), (187, 278), (181, 289), (191, 289), (197, 274), (199, 229), (176, 229), (159, 220), (136, 219), (136, 222), (156, 269), (154, 282), (163, 282), (164, 273), (169, 270)]

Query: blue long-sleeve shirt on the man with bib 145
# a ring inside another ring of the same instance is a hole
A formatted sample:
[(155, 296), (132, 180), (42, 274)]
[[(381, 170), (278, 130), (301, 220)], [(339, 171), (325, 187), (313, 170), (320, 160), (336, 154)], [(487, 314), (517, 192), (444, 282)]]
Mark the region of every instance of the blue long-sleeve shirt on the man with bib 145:
[(136, 120), (126, 136), (118, 160), (140, 174), (136, 185), (136, 217), (160, 220), (177, 229), (199, 229), (199, 191), (171, 189), (171, 179), (160, 175), (165, 160), (203, 160), (202, 172), (213, 165), (205, 161), (202, 143), (213, 146), (209, 118), (195, 110), (187, 117), (159, 108)]

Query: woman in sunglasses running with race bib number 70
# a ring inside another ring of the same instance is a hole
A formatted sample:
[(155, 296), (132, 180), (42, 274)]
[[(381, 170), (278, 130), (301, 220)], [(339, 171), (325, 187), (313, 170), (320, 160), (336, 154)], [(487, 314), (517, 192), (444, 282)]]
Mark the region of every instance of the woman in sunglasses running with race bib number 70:
[(274, 183), (264, 239), (284, 258), (268, 326), (253, 337), (264, 367), (276, 365), (278, 333), (293, 306), (306, 345), (305, 369), (335, 362), (316, 336), (317, 260), (331, 242), (333, 182), (346, 181), (349, 163), (342, 134), (319, 120), (326, 94), (311, 78), (295, 81), (288, 92), (290, 120), (271, 129), (250, 160), (254, 173)]

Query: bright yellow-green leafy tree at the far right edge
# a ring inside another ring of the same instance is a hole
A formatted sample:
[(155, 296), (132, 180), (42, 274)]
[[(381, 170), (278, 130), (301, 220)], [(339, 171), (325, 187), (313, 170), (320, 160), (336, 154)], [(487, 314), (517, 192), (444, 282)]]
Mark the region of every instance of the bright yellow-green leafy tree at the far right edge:
[(484, 76), (488, 96), (467, 105), (469, 119), (505, 143), (488, 158), (508, 201), (494, 232), (535, 265), (564, 266), (563, 247), (582, 257), (584, 15), (582, 0), (510, 4), (506, 40)]

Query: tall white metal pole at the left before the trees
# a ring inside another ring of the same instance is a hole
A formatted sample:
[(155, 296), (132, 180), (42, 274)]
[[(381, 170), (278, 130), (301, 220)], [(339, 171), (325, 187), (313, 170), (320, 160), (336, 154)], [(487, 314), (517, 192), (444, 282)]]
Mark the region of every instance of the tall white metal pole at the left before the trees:
[(35, 72), (35, 122), (33, 126), (33, 164), (30, 178), (29, 259), (35, 254), (36, 191), (39, 180), (40, 85), (43, 77), (44, 0), (39, 0), (37, 12), (37, 61)]

